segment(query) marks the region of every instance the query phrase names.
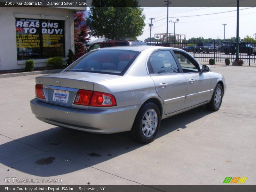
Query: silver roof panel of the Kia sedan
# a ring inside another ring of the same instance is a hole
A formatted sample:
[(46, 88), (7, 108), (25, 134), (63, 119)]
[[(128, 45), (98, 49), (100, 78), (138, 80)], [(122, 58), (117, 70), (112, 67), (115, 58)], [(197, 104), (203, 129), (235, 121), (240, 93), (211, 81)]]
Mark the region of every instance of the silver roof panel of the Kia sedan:
[[(163, 46), (149, 46), (149, 45), (134, 45), (134, 46), (115, 46), (115, 47), (105, 47), (103, 48), (104, 50), (130, 50), (130, 51), (143, 51), (145, 49), (148, 50), (157, 50), (157, 49), (173, 49), (173, 50), (181, 50), (178, 48), (174, 48), (174, 47), (163, 47)], [(101, 49), (95, 49), (95, 50), (103, 50)]]

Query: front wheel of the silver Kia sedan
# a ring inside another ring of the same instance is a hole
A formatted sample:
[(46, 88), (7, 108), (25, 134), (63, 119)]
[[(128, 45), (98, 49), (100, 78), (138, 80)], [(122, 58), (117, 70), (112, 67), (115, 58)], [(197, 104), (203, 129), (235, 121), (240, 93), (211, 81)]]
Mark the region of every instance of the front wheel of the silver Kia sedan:
[[(219, 97), (219, 93), (221, 93), (220, 97)], [(222, 98), (223, 98), (222, 86), (220, 84), (217, 84), (212, 94), (212, 99), (210, 103), (206, 104), (206, 108), (211, 111), (218, 111), (222, 103)]]

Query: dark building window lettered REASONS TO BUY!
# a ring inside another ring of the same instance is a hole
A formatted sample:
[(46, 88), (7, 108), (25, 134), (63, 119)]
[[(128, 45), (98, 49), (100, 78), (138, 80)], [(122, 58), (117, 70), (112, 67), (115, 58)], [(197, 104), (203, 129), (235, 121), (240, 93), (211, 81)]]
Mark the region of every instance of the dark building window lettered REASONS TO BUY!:
[(17, 59), (65, 57), (64, 21), (16, 18)]

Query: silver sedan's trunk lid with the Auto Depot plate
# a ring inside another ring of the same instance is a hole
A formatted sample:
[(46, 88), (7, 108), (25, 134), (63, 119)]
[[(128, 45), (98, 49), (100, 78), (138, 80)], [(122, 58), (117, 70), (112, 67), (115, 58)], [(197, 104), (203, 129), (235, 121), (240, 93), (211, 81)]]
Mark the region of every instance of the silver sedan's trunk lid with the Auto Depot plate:
[(114, 78), (120, 78), (120, 76), (86, 72), (61, 72), (36, 77), (36, 84), (43, 84), (45, 100), (40, 99), (41, 101), (66, 107), (88, 108), (88, 106), (73, 104), (78, 90), (93, 91), (94, 83)]

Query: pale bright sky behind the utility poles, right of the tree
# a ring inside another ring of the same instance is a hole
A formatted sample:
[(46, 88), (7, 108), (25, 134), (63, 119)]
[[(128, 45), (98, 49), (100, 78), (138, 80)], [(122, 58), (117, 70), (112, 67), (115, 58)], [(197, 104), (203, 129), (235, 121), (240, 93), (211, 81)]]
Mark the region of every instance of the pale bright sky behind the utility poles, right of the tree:
[[(150, 23), (152, 20), (151, 37), (156, 33), (166, 33), (167, 7), (143, 7), (143, 13), (146, 15), (146, 26), (143, 29), (143, 35), (138, 40), (144, 41), (149, 37)], [(242, 10), (244, 9), (244, 10)], [(234, 11), (235, 10), (235, 11)], [(228, 12), (233, 11), (233, 12)], [(224, 13), (219, 13), (224, 12)], [(211, 14), (218, 13), (218, 14)], [(204, 15), (211, 14), (211, 15)], [(201, 16), (195, 16), (201, 15)], [(236, 7), (169, 7), (169, 20), (179, 19), (175, 24), (175, 33), (186, 35), (186, 39), (191, 37), (204, 38), (225, 38), (236, 36)], [(239, 11), (239, 36), (243, 39), (246, 35), (253, 36), (256, 33), (256, 8), (240, 7)], [(173, 23), (168, 23), (168, 33), (173, 33)]]

